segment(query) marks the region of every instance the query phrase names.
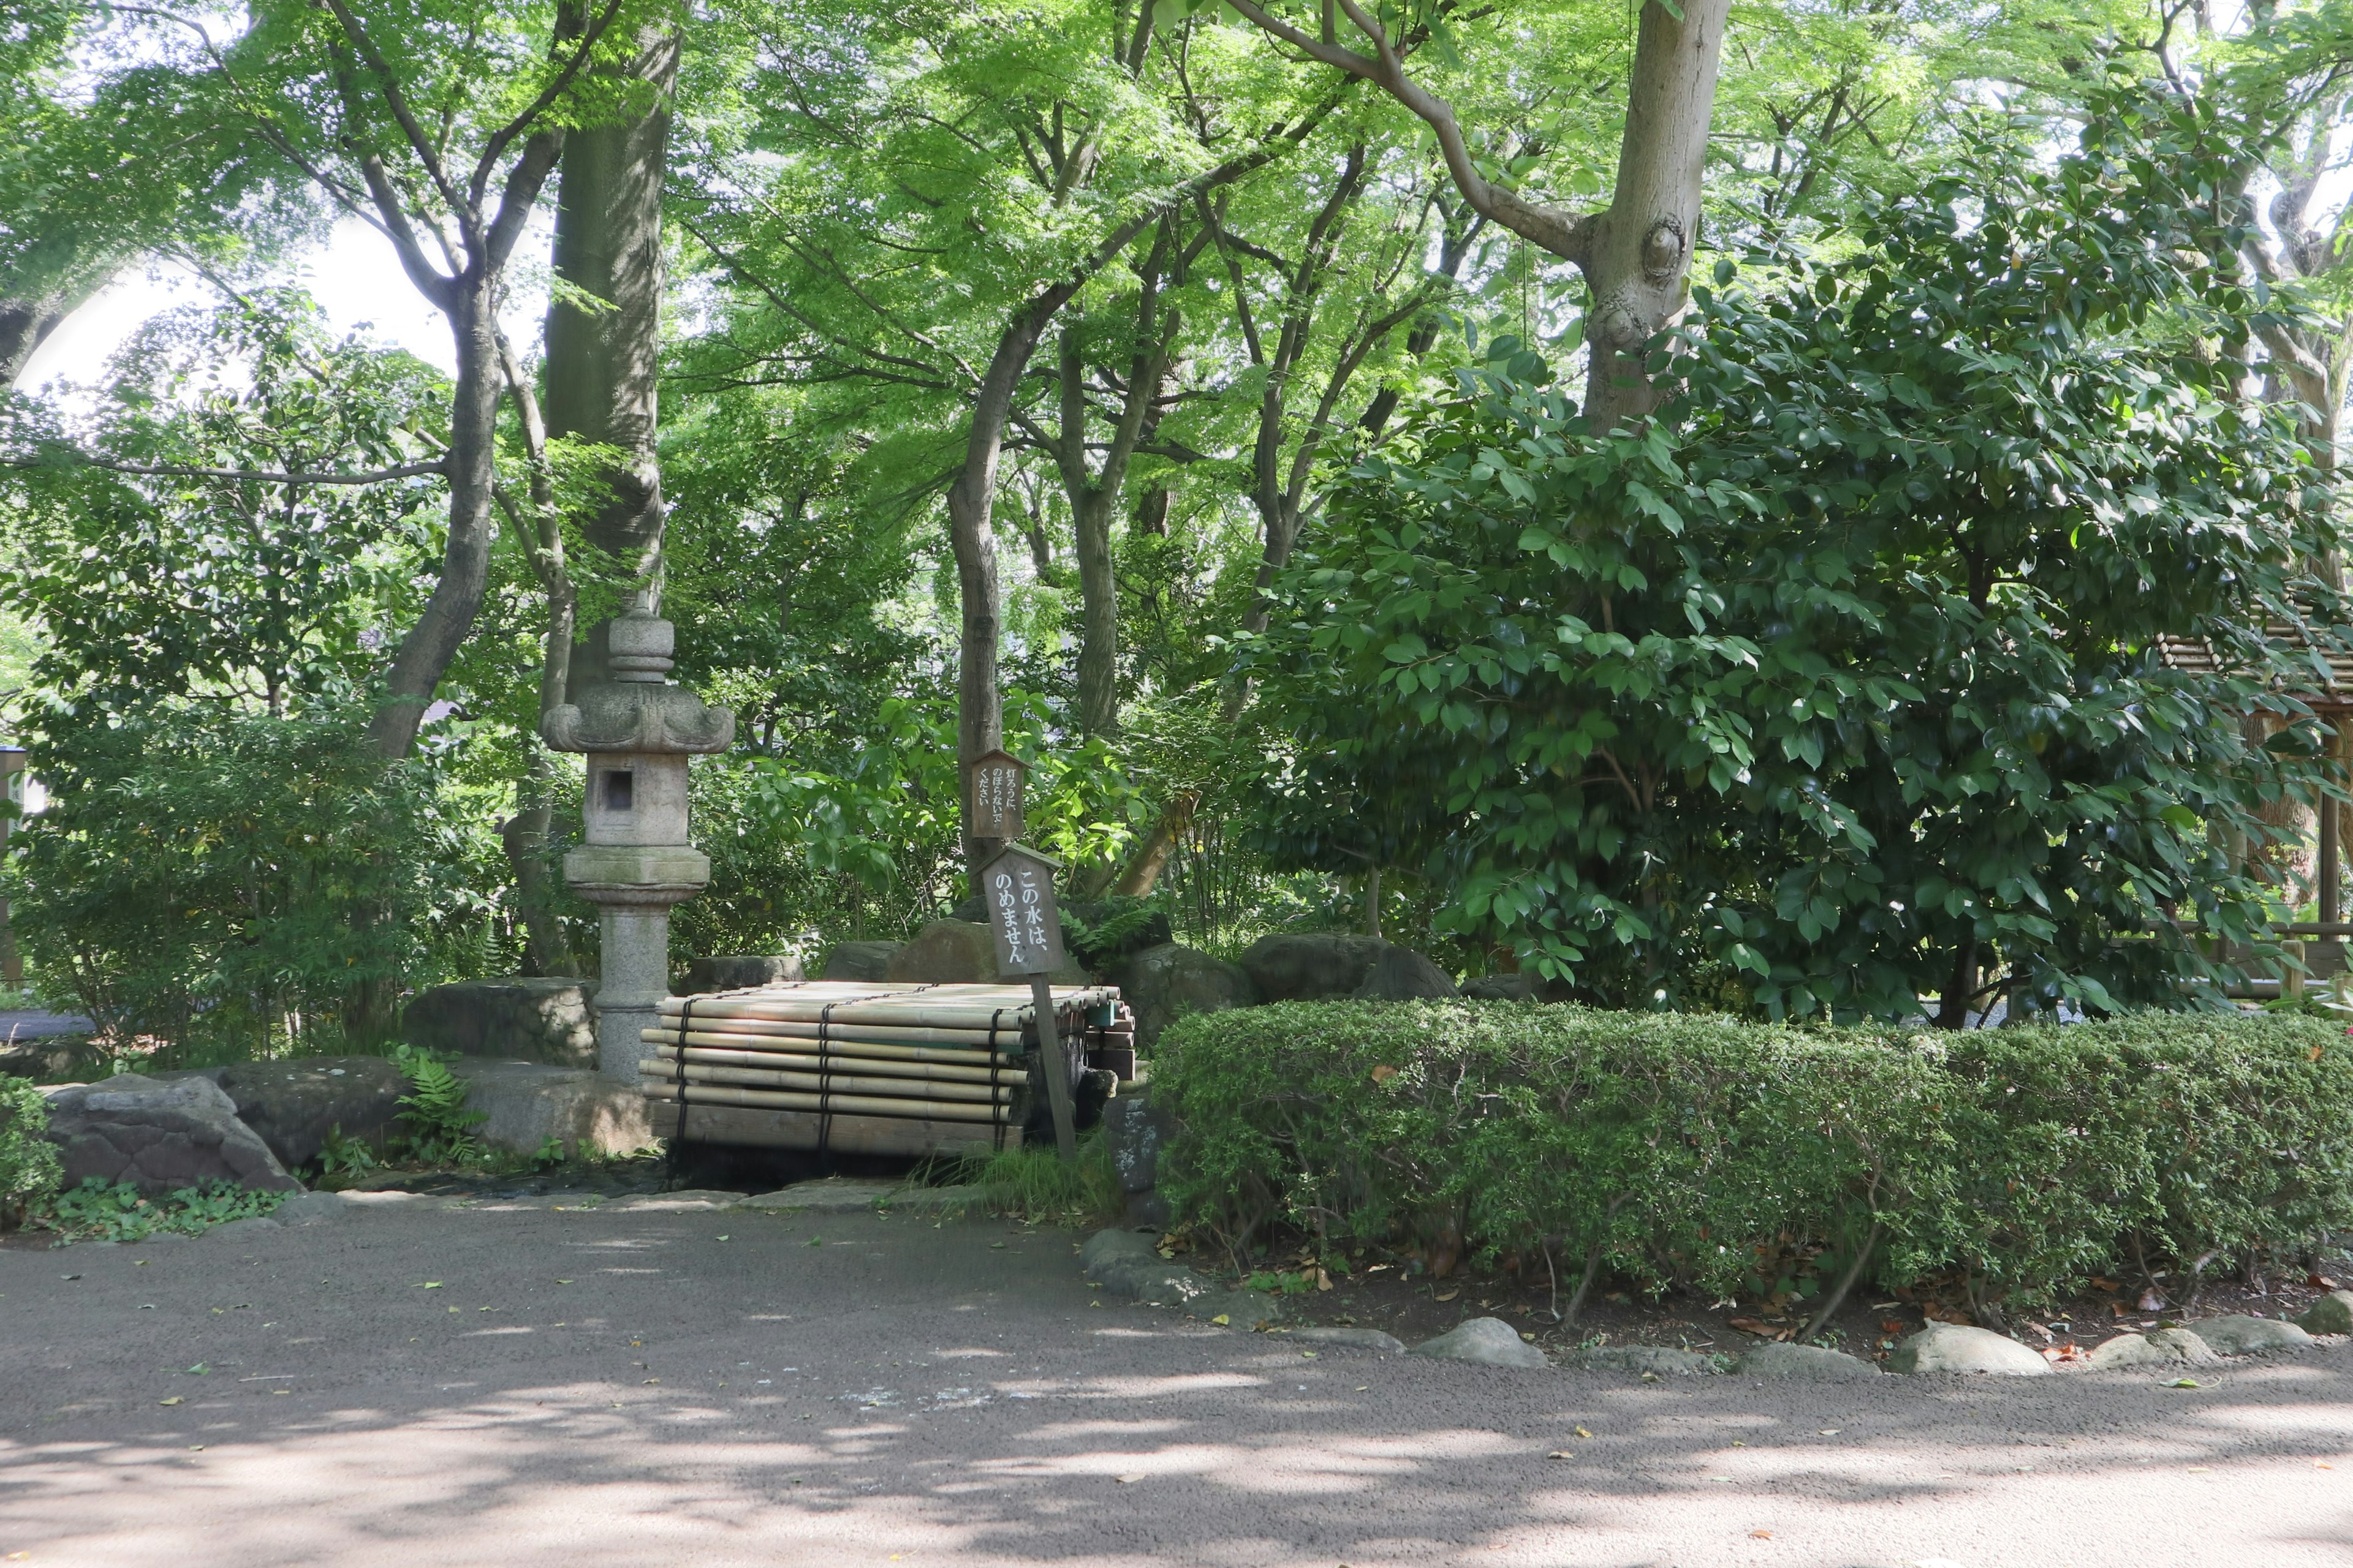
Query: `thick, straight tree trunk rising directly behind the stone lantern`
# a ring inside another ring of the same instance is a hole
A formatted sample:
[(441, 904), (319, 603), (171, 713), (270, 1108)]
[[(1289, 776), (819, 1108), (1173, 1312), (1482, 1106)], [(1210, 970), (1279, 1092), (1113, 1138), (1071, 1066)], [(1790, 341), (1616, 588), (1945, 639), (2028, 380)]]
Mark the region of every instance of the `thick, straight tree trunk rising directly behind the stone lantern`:
[[(555, 277), (576, 289), (548, 301), (548, 435), (619, 447), (584, 520), (591, 545), (661, 604), (661, 458), (654, 451), (661, 376), (661, 179), (678, 82), (678, 31), (647, 28), (621, 73), (647, 82), (647, 113), (565, 139), (555, 190)], [(602, 308), (586, 299), (602, 301)]]

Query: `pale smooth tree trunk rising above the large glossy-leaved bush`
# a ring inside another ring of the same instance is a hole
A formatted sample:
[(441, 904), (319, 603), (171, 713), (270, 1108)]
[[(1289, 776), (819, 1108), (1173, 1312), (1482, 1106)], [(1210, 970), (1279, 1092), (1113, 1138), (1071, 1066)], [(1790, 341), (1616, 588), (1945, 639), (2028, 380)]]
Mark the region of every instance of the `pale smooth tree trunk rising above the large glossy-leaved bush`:
[(1642, 7), (1617, 190), (1577, 259), (1593, 292), (1586, 414), (1595, 430), (1645, 418), (1666, 397), (1642, 374), (1640, 348), (1682, 315), (1729, 9), (1729, 0), (1685, 0), (1678, 19), (1659, 0)]

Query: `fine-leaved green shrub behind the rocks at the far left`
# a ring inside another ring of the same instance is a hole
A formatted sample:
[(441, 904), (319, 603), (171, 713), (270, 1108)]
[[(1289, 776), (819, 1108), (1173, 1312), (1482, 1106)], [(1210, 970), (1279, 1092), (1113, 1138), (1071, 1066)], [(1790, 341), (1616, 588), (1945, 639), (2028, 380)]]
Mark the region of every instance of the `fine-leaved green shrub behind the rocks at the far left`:
[(478, 823), (365, 712), (158, 708), (33, 743), (52, 788), (7, 875), (42, 983), (181, 1065), (372, 1048), (480, 943)]

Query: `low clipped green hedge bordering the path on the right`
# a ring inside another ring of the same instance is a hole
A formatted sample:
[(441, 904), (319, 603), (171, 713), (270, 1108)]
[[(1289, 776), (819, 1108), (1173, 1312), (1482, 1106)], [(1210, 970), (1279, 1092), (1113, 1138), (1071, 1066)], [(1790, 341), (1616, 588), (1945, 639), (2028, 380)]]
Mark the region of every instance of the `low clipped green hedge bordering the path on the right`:
[(1186, 1220), (1452, 1232), (1565, 1281), (1600, 1258), (1647, 1288), (1812, 1295), (1868, 1244), (1885, 1286), (2026, 1305), (2353, 1225), (2353, 1041), (2318, 1018), (1944, 1034), (1292, 1001), (1176, 1023), (1153, 1093)]

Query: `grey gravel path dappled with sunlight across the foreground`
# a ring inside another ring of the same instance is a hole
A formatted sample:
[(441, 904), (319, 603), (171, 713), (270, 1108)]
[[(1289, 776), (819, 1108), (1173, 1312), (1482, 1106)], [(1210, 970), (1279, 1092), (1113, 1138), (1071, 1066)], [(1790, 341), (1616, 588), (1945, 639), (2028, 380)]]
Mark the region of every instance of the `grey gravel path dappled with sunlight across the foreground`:
[(1308, 1356), (1096, 1305), (1078, 1241), (379, 1197), (9, 1246), (0, 1561), (2353, 1561), (2341, 1349), (2200, 1389)]

